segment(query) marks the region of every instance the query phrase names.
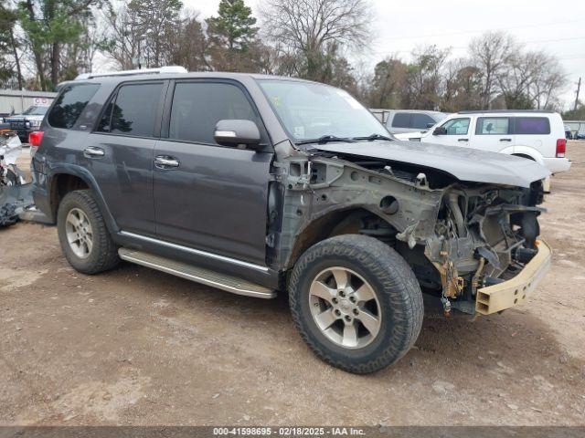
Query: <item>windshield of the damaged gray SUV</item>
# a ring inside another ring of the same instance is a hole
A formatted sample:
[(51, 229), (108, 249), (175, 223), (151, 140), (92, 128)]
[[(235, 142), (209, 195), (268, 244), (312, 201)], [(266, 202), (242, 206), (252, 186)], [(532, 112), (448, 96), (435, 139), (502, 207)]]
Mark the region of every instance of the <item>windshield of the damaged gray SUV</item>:
[(259, 80), (294, 141), (388, 136), (382, 124), (342, 89), (297, 80)]

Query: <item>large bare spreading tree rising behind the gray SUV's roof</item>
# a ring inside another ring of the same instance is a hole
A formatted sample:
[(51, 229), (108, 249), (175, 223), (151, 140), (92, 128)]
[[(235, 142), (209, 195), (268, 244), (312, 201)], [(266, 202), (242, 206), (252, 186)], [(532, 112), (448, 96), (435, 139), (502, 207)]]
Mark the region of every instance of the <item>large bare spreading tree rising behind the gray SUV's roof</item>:
[[(366, 0), (267, 0), (261, 10), (266, 34), (302, 65), (299, 76), (319, 79), (333, 47), (364, 47), (371, 9)], [(337, 48), (335, 48), (337, 50)]]

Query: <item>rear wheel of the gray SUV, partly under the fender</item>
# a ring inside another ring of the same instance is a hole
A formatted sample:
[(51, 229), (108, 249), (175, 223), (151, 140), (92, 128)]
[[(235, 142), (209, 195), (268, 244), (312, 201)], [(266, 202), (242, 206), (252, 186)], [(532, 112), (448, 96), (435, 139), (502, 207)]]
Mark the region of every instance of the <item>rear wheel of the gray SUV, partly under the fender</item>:
[(58, 240), (65, 258), (83, 274), (97, 274), (120, 259), (98, 204), (89, 190), (65, 195), (58, 206)]

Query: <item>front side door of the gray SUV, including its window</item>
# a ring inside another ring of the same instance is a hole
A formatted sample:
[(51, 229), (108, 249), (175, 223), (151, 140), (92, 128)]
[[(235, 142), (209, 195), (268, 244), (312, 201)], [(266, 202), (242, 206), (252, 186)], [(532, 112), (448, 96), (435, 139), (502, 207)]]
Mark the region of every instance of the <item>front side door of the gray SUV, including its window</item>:
[(232, 81), (176, 81), (154, 159), (156, 234), (214, 255), (265, 265), (271, 151), (220, 146), (218, 120), (252, 120), (268, 135), (247, 91)]

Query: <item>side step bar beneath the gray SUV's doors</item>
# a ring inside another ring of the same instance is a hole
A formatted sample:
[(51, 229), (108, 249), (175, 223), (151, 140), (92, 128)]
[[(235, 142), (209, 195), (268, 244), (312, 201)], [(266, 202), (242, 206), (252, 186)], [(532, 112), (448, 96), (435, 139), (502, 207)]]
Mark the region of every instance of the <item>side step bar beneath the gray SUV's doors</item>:
[(118, 249), (118, 255), (120, 255), (122, 260), (137, 265), (152, 267), (167, 274), (180, 276), (187, 280), (201, 283), (202, 285), (227, 290), (233, 294), (257, 298), (276, 297), (276, 292), (266, 287), (255, 285), (235, 276), (219, 274), (218, 272), (210, 271), (202, 267), (192, 266), (170, 258), (161, 257), (160, 255), (144, 253), (143, 251), (128, 248)]

